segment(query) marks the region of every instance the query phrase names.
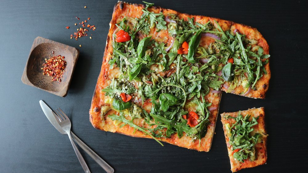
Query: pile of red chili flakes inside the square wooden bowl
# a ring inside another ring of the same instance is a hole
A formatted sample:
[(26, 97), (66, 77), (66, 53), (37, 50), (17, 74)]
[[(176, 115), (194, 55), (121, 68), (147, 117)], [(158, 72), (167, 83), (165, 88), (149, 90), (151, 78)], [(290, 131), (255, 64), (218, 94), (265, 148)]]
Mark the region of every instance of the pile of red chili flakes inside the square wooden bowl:
[(43, 75), (51, 76), (52, 81), (61, 82), (61, 77), (65, 72), (66, 61), (64, 60), (64, 56), (58, 55), (55, 57), (49, 57), (49, 59), (45, 58), (45, 63), (41, 68), (43, 70)]

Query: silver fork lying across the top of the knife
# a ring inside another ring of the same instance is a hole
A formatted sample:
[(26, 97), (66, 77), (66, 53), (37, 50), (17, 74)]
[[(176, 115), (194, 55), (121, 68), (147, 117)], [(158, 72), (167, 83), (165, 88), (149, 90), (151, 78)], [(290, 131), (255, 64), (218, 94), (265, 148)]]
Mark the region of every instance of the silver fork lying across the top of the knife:
[(54, 116), (55, 116), (56, 120), (58, 121), (59, 125), (61, 126), (61, 128), (67, 133), (68, 137), (70, 138), (72, 146), (74, 148), (74, 151), (75, 151), (75, 153), (78, 157), (78, 160), (79, 160), (84, 172), (90, 173), (90, 170), (87, 166), (87, 163), (84, 161), (81, 153), (79, 152), (78, 148), (76, 147), (76, 145), (75, 145), (75, 143), (72, 139), (72, 136), (71, 136), (71, 120), (67, 117), (67, 115), (60, 108), (58, 108), (58, 109), (56, 109), (58, 112), (54, 110), (52, 113), (54, 114)]

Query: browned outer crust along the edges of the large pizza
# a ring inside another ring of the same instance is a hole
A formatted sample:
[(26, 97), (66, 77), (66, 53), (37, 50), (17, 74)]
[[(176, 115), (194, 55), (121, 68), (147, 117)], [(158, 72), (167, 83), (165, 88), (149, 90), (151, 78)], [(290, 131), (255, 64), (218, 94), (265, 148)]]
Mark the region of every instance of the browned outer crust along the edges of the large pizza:
[[(144, 7), (145, 6), (141, 4), (128, 4), (128, 3), (120, 2), (120, 1), (115, 5), (114, 11), (112, 14), (112, 19), (110, 22), (110, 29), (109, 29), (108, 36), (107, 36), (101, 72), (99, 74), (97, 84), (95, 86), (95, 91), (93, 93), (93, 98), (92, 98), (89, 114), (90, 114), (91, 124), (93, 125), (94, 128), (97, 128), (99, 130), (117, 132), (117, 133), (121, 133), (127, 136), (133, 136), (133, 137), (151, 138), (150, 136), (144, 134), (143, 132), (140, 132), (138, 130), (135, 131), (135, 129), (130, 127), (129, 125), (125, 125), (122, 128), (119, 127), (120, 125), (115, 125), (113, 121), (108, 117), (108, 115), (116, 113), (113, 110), (107, 112), (103, 116), (101, 116), (101, 113), (100, 113), (101, 106), (110, 105), (110, 104), (105, 103), (105, 99), (106, 99), (105, 92), (101, 92), (101, 89), (106, 88), (110, 84), (111, 79), (117, 75), (117, 69), (116, 68), (110, 69), (110, 66), (108, 64), (108, 61), (112, 54), (112, 34), (116, 27), (115, 24), (118, 23), (124, 17), (140, 18), (140, 16), (142, 15), (141, 10)], [(225, 21), (225, 20), (221, 20), (218, 18), (181, 14), (174, 10), (163, 9), (163, 8), (156, 7), (156, 6), (149, 8), (149, 11), (154, 11), (155, 13), (162, 12), (165, 16), (167, 14), (172, 13), (172, 14), (177, 14), (180, 18), (194, 17), (195, 22), (200, 22), (200, 23), (206, 23), (208, 21), (211, 21), (212, 23), (214, 23), (214, 20), (216, 20), (224, 30), (230, 29), (230, 27), (233, 25), (240, 25), (240, 24), (236, 24), (231, 21)], [(248, 26), (245, 26), (245, 27), (248, 27)], [(266, 43), (265, 39), (261, 36), (261, 34), (256, 29), (253, 29), (253, 30), (257, 32), (258, 33), (257, 35), (259, 35), (260, 39), (263, 39), (264, 40), (263, 42)], [(211, 40), (211, 38), (208, 38), (208, 37), (205, 37), (204, 39), (205, 39), (204, 41), (207, 41), (207, 42), (213, 41), (213, 39)], [(164, 42), (167, 44), (166, 46), (170, 44), (170, 41), (168, 41), (168, 39), (164, 40)], [(265, 46), (265, 52), (266, 50), (268, 52), (268, 49), (266, 49), (266, 46)], [(210, 92), (206, 96), (206, 99), (212, 100), (212, 102), (217, 103), (217, 107), (219, 108), (221, 93), (213, 94)], [(171, 138), (161, 138), (158, 140), (161, 140), (161, 141), (173, 144), (173, 145), (177, 145), (180, 147), (194, 149), (197, 151), (209, 151), (212, 141), (213, 141), (213, 134), (214, 134), (214, 129), (215, 129), (216, 121), (217, 121), (218, 108), (210, 112), (210, 116), (209, 116), (210, 124), (208, 125), (208, 131), (207, 131), (206, 136), (201, 139), (200, 146), (199, 146), (199, 140), (191, 139), (190, 137), (185, 136), (185, 134), (180, 139), (177, 137), (177, 134), (173, 134)], [(134, 120), (134, 123), (136, 124), (141, 125), (140, 122), (142, 122), (142, 119)]]

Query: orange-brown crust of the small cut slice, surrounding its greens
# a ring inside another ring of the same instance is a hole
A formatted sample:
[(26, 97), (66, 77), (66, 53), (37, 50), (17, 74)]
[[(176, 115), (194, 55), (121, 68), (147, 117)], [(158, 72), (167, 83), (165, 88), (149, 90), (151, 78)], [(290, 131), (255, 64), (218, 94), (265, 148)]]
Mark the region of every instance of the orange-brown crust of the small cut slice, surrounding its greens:
[(227, 135), (227, 131), (225, 129), (225, 125), (226, 123), (229, 123), (230, 126), (232, 126), (233, 123), (235, 123), (235, 121), (233, 119), (227, 119), (225, 117), (227, 116), (232, 116), (232, 117), (237, 117), (238, 112), (224, 112), (221, 114), (221, 122), (223, 124), (223, 129), (224, 129), (224, 133), (225, 133), (225, 140), (226, 140), (226, 144), (227, 144), (227, 148), (228, 148), (228, 155), (230, 158), (230, 164), (231, 164), (231, 171), (232, 172), (236, 172), (239, 171), (241, 169), (244, 168), (249, 168), (249, 167), (256, 167), (258, 165), (263, 165), (266, 164), (266, 160), (267, 160), (267, 148), (266, 148), (266, 143), (267, 143), (267, 134), (266, 134), (266, 128), (265, 128), (265, 113), (264, 113), (264, 108), (252, 108), (252, 109), (248, 109), (246, 111), (241, 111), (241, 115), (246, 116), (246, 115), (251, 115), (250, 120), (252, 119), (252, 117), (257, 117), (259, 116), (259, 119), (257, 120), (258, 124), (254, 125), (253, 128), (253, 132), (252, 133), (260, 133), (262, 136), (261, 138), (261, 142), (257, 143), (255, 145), (256, 148), (256, 155), (257, 155), (257, 159), (255, 161), (250, 161), (250, 160), (245, 160), (245, 162), (241, 163), (238, 160), (234, 159), (233, 155), (232, 155), (232, 146), (229, 145), (229, 137)]

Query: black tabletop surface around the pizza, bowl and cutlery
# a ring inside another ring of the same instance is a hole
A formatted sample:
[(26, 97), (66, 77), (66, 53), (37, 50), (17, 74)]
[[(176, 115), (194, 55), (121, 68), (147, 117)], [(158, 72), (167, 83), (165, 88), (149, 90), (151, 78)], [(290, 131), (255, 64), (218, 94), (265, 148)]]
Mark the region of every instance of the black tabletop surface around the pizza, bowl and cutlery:
[[(47, 120), (39, 100), (60, 107), (72, 131), (116, 172), (231, 172), (220, 116), (209, 152), (197, 152), (151, 139), (96, 130), (89, 108), (100, 72), (109, 22), (117, 1), (0, 1), (0, 172), (83, 172), (68, 136)], [(129, 2), (142, 3), (141, 1)], [(270, 45), (272, 78), (266, 99), (223, 93), (219, 113), (265, 107), (266, 165), (240, 172), (306, 171), (307, 149), (307, 2), (154, 1), (182, 13), (233, 20), (256, 27)], [(86, 9), (83, 7), (87, 6)], [(70, 39), (74, 23), (91, 18), (92, 39)], [(70, 29), (66, 29), (70, 26)], [(21, 81), (37, 36), (80, 50), (68, 95), (50, 94)], [(79, 44), (82, 45), (79, 48)], [(104, 172), (80, 149), (92, 172)]]

